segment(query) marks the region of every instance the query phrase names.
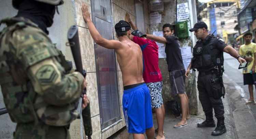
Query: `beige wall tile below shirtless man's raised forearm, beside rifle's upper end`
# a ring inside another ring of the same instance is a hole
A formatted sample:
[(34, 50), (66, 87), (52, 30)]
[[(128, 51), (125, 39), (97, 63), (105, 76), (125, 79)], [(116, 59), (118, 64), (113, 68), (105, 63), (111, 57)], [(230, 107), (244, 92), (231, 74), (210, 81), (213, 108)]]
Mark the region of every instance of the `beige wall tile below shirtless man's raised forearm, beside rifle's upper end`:
[(83, 67), (87, 72), (96, 72), (94, 42), (89, 30), (78, 27)]

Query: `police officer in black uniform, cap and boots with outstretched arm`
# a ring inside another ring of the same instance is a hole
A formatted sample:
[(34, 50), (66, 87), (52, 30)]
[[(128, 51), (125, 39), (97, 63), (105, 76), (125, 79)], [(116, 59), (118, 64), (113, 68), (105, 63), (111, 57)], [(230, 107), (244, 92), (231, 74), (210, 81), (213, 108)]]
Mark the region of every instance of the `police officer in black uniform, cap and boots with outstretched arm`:
[(186, 77), (190, 69), (197, 69), (198, 75), (198, 91), (199, 100), (205, 113), (205, 121), (198, 123), (197, 127), (215, 127), (213, 120), (214, 109), (217, 118), (217, 126), (212, 132), (213, 136), (219, 136), (226, 132), (224, 123), (224, 106), (221, 97), (224, 98), (225, 88), (222, 81), (223, 69), (223, 52), (230, 54), (240, 63), (245, 60), (237, 53), (237, 51), (226, 44), (222, 38), (209, 34), (207, 25), (204, 22), (198, 22), (194, 28), (189, 29), (195, 32), (198, 41), (193, 48), (193, 59), (185, 73)]

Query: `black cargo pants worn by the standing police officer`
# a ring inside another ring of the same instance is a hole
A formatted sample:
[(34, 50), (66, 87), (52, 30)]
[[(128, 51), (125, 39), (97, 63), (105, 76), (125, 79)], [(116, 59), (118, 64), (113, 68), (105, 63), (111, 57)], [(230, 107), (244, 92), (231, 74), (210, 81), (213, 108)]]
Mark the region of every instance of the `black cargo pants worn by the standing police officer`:
[(221, 82), (212, 81), (216, 77), (215, 73), (205, 74), (199, 72), (198, 75), (197, 88), (199, 91), (199, 100), (208, 120), (213, 119), (212, 108), (217, 119), (224, 119), (224, 106), (221, 96), (218, 96), (222, 91)]

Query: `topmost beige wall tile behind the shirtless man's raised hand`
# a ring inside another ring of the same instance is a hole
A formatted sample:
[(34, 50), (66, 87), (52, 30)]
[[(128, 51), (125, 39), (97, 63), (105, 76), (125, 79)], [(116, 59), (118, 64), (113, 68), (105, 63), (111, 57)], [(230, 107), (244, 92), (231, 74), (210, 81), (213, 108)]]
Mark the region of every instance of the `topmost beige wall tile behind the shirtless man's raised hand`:
[(91, 1), (90, 0), (75, 0), (75, 11), (76, 11), (76, 22), (78, 26), (87, 27), (87, 24), (84, 22), (82, 14), (82, 3), (85, 3), (89, 6), (89, 12), (91, 13)]

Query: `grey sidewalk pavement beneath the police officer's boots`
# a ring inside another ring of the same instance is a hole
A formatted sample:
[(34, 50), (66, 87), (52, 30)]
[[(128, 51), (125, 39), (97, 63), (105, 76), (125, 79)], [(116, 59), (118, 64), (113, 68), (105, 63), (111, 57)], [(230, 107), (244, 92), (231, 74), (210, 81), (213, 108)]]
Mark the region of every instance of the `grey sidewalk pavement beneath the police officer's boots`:
[[(166, 139), (236, 139), (235, 128), (233, 124), (233, 118), (231, 109), (229, 106), (229, 99), (225, 97), (223, 99), (223, 104), (225, 108), (225, 124), (227, 128), (227, 133), (221, 136), (212, 136), (211, 133), (215, 127), (198, 128), (197, 123), (204, 121), (204, 114), (199, 116), (191, 115), (191, 119), (188, 120), (188, 126), (180, 129), (174, 129), (173, 126), (177, 124), (180, 119), (174, 118), (171, 114), (166, 115), (164, 130), (166, 132)], [(170, 111), (170, 110), (166, 110)], [(216, 118), (214, 118), (217, 124)], [(156, 119), (154, 118), (154, 125), (157, 127)]]

